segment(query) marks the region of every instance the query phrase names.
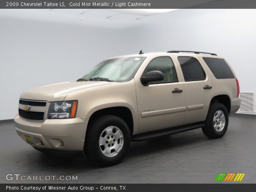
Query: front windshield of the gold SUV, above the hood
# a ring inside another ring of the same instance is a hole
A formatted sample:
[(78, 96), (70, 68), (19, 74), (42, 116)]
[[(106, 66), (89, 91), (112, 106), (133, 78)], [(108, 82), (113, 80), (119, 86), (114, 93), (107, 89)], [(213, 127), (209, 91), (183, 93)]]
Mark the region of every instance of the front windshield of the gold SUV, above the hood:
[(146, 57), (122, 57), (102, 61), (92, 68), (81, 80), (108, 80), (125, 82), (134, 78)]

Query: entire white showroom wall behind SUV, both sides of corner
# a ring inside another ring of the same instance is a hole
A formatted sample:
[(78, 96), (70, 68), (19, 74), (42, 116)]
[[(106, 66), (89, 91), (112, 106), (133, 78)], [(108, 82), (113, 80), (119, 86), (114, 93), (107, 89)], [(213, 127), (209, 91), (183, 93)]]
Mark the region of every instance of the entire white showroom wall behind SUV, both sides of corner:
[(18, 111), (22, 91), (75, 81), (120, 54), (196, 50), (224, 56), (241, 90), (256, 91), (256, 10), (176, 10), (129, 28), (0, 15), (0, 120)]

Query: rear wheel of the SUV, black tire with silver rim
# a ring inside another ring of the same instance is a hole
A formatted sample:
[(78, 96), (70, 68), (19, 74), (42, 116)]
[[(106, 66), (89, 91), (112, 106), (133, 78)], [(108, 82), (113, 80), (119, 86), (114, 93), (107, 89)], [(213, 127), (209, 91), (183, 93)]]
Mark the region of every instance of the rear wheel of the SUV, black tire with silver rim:
[(217, 139), (224, 136), (228, 129), (228, 111), (221, 103), (210, 104), (205, 126), (202, 128), (208, 138)]

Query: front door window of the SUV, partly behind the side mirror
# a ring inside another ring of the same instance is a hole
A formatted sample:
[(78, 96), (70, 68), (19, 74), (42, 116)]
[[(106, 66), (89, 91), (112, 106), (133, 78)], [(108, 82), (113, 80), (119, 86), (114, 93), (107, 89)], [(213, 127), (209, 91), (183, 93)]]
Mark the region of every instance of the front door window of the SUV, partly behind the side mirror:
[(154, 58), (147, 66), (145, 70), (146, 72), (149, 71), (161, 71), (164, 74), (164, 80), (154, 82), (155, 83), (170, 83), (170, 82), (177, 82), (178, 78), (176, 75), (176, 71), (170, 57), (158, 57)]

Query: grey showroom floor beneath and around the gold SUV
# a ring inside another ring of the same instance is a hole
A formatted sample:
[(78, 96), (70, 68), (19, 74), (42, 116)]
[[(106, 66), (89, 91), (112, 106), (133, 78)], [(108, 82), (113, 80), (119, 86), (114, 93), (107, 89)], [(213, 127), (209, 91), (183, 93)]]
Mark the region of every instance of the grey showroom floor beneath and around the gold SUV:
[(19, 138), (13, 122), (1, 122), (0, 172), (0, 183), (33, 183), (8, 181), (10, 173), (78, 176), (72, 183), (214, 183), (218, 173), (245, 173), (242, 183), (256, 183), (256, 118), (230, 116), (226, 135), (217, 140), (198, 129), (132, 142), (122, 163), (108, 168), (94, 166), (86, 157), (42, 154)]

